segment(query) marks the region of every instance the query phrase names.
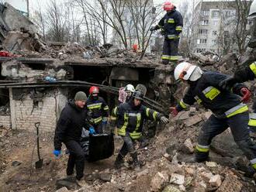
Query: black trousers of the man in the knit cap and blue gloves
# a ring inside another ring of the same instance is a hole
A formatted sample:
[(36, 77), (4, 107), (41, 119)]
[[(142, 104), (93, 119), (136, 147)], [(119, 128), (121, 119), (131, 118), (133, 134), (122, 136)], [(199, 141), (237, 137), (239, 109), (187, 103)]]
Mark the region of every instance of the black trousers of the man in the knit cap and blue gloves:
[(79, 142), (71, 140), (64, 143), (67, 147), (70, 155), (67, 161), (67, 175), (72, 175), (74, 173), (74, 166), (76, 170), (76, 177), (78, 180), (84, 176), (85, 167), (85, 152), (81, 149)]

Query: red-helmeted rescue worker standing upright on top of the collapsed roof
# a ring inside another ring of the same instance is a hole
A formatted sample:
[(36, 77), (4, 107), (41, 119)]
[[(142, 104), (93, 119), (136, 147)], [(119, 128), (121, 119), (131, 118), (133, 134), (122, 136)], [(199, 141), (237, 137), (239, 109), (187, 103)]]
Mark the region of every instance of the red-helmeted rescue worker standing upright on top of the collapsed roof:
[(150, 31), (161, 29), (164, 33), (164, 46), (162, 53), (162, 63), (168, 64), (169, 61), (177, 62), (178, 42), (180, 33), (182, 33), (183, 18), (182, 14), (176, 10), (175, 5), (171, 2), (164, 3), (164, 11), (167, 13), (158, 22), (157, 26), (152, 26)]

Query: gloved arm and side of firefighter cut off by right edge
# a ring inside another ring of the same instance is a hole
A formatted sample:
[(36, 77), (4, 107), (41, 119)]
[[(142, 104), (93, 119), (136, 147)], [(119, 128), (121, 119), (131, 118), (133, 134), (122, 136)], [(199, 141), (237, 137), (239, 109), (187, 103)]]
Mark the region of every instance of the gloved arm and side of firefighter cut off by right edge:
[[(234, 84), (252, 81), (254, 78), (256, 78), (256, 62), (236, 70), (233, 77), (229, 77), (220, 82), (220, 87), (225, 90), (231, 90)], [(250, 114), (248, 125), (251, 132), (256, 132), (256, 100), (254, 101), (252, 108), (253, 113)]]

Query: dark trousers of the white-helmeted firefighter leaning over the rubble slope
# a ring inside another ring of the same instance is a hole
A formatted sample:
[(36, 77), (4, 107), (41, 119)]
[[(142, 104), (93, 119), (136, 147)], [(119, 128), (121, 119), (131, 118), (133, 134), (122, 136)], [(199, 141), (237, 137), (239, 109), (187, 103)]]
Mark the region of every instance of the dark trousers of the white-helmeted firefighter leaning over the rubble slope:
[(244, 152), (244, 155), (247, 156), (247, 159), (254, 165), (254, 162), (256, 161), (256, 144), (251, 141), (249, 130), (247, 129), (248, 121), (248, 111), (223, 119), (211, 115), (205, 124), (202, 125), (201, 132), (199, 133), (195, 158), (199, 161), (207, 159), (209, 145), (213, 137), (219, 135), (230, 127), (237, 146), (239, 146)]

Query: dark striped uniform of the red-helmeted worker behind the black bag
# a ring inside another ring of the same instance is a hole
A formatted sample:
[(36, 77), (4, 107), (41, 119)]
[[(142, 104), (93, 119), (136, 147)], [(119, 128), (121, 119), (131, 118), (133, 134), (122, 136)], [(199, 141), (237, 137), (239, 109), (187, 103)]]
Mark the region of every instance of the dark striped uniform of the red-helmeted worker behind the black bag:
[(109, 117), (109, 106), (106, 104), (106, 101), (101, 98), (92, 98), (90, 97), (86, 101), (86, 108), (89, 114), (90, 123), (95, 128), (96, 133), (102, 133), (102, 118)]

